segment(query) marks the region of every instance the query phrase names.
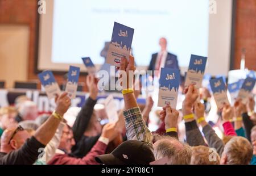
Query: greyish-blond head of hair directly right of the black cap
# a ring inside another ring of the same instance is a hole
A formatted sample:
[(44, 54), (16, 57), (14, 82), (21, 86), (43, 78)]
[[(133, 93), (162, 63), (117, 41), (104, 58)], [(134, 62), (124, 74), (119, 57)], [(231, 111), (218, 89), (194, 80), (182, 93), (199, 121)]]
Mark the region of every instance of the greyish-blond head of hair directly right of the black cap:
[(168, 157), (169, 165), (190, 164), (192, 149), (187, 144), (180, 143), (174, 137), (163, 136), (154, 145), (154, 155), (156, 160)]

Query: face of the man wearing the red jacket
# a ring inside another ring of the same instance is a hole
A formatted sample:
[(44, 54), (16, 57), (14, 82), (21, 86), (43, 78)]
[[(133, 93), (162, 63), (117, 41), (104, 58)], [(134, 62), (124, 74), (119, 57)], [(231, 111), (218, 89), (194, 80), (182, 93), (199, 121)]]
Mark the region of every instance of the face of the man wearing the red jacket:
[(71, 148), (75, 144), (76, 143), (73, 137), (73, 131), (71, 127), (65, 124), (62, 131), (59, 148), (67, 153), (71, 153)]

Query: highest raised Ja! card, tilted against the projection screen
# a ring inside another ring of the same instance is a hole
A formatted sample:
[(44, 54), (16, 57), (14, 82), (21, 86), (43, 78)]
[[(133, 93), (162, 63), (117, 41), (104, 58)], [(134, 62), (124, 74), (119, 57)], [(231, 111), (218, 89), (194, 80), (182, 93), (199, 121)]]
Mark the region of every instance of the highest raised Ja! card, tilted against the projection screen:
[(106, 63), (120, 66), (121, 58), (129, 59), (134, 29), (114, 22)]

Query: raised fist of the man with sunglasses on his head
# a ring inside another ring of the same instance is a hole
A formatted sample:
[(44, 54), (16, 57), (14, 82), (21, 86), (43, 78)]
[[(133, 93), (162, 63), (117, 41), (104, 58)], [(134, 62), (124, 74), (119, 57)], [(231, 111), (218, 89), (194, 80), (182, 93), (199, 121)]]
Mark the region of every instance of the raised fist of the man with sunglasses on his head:
[(56, 98), (56, 109), (55, 111), (63, 116), (67, 112), (69, 106), (71, 106), (71, 99), (68, 97), (68, 93), (64, 92)]

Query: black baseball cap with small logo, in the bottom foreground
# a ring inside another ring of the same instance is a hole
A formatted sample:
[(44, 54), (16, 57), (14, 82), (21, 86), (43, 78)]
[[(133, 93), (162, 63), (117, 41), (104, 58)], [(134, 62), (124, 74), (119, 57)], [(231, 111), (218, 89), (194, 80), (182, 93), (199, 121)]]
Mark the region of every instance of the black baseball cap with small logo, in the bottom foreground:
[(155, 161), (155, 157), (146, 143), (129, 140), (120, 144), (110, 154), (97, 156), (95, 160), (105, 165), (148, 165)]

